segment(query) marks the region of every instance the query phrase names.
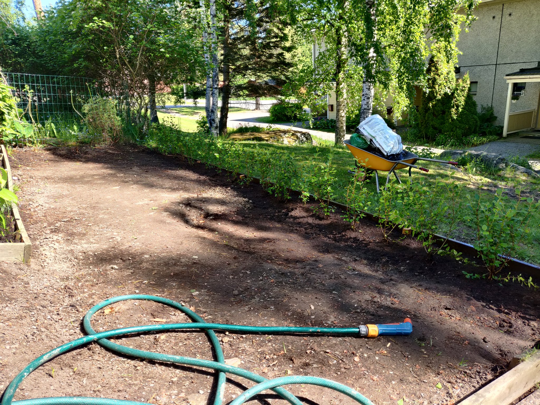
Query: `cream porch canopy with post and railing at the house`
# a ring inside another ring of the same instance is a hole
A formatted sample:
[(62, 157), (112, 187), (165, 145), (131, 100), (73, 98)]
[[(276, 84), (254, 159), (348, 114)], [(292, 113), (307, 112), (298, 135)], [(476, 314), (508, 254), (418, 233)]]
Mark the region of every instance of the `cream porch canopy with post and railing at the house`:
[[(506, 111), (504, 112), (503, 137), (508, 133), (522, 130), (530, 130), (535, 125), (532, 124), (532, 118), (536, 109), (510, 112), (510, 103), (512, 101), (512, 90), (514, 83), (540, 82), (540, 66), (536, 68), (524, 68), (514, 73), (508, 73), (504, 76), (508, 83), (508, 96)], [(509, 126), (510, 124), (510, 126)]]

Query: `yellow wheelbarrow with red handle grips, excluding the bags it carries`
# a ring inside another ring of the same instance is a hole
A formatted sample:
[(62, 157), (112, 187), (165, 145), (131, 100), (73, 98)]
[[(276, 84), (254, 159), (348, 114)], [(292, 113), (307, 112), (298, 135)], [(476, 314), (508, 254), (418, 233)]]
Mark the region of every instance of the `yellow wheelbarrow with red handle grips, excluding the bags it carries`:
[(397, 176), (396, 170), (408, 167), (409, 177), (411, 177), (411, 170), (413, 170), (413, 168), (421, 170), (426, 173), (429, 172), (427, 168), (415, 165), (416, 161), (418, 160), (434, 161), (437, 163), (457, 165), (457, 162), (455, 161), (421, 158), (418, 155), (412, 152), (408, 152), (406, 150), (403, 150), (403, 153), (400, 154), (399, 160), (392, 160), (391, 157), (389, 156), (385, 157), (381, 153), (376, 152), (375, 150), (370, 152), (365, 149), (361, 149), (359, 147), (351, 145), (348, 139), (344, 140), (343, 143), (347, 145), (347, 147), (349, 148), (349, 151), (353, 154), (354, 158), (356, 159), (357, 166), (360, 165), (362, 167), (365, 167), (369, 171), (375, 172), (375, 184), (377, 186), (377, 193), (379, 193), (379, 171), (388, 172), (386, 176), (386, 184), (384, 185), (386, 189), (386, 186), (388, 185), (388, 181), (390, 181), (390, 175), (392, 173), (394, 173), (396, 180), (399, 181), (399, 183), (401, 184), (401, 180), (399, 176)]

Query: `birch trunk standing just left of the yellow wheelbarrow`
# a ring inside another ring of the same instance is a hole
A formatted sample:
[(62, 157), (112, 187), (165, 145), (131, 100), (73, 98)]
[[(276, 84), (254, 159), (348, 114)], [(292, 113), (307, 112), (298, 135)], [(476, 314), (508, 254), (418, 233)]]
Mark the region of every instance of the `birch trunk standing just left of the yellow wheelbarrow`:
[[(345, 9), (347, 2), (343, 2)], [(339, 25), (336, 28), (336, 50), (338, 52), (336, 58), (336, 134), (335, 145), (341, 145), (345, 139), (346, 127), (346, 97), (347, 86), (345, 83), (345, 69), (347, 67), (347, 32)]]

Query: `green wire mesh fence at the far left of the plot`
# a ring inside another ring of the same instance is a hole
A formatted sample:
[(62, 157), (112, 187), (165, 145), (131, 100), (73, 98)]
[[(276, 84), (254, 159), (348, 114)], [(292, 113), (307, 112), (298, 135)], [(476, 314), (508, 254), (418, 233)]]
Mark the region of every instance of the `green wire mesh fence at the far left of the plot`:
[(82, 131), (83, 105), (99, 95), (95, 80), (86, 77), (3, 72), (24, 119), (35, 126), (32, 137), (12, 140), (14, 146), (45, 143), (53, 138), (77, 138)]

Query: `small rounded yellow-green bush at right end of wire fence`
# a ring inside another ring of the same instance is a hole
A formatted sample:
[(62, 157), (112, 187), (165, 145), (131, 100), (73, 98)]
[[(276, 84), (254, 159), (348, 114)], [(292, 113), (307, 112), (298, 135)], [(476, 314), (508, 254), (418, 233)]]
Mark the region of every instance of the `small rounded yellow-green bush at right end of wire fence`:
[(114, 102), (93, 97), (83, 105), (83, 122), (96, 142), (111, 144), (122, 139), (122, 120), (116, 114)]

